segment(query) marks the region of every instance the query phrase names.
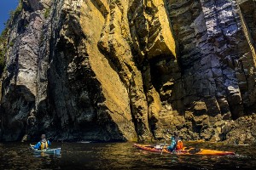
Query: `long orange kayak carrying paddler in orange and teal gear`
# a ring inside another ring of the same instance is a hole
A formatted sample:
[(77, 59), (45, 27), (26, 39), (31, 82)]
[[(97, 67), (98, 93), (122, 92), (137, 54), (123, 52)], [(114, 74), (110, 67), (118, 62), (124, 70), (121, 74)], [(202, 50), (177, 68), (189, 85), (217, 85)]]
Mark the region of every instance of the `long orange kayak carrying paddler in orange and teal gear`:
[(179, 156), (186, 155), (203, 155), (203, 156), (234, 156), (233, 151), (219, 151), (219, 150), (204, 150), (198, 148), (183, 147), (182, 150), (176, 150), (174, 153), (166, 149), (166, 146), (160, 144), (133, 144), (141, 150), (148, 150), (152, 152), (176, 154)]

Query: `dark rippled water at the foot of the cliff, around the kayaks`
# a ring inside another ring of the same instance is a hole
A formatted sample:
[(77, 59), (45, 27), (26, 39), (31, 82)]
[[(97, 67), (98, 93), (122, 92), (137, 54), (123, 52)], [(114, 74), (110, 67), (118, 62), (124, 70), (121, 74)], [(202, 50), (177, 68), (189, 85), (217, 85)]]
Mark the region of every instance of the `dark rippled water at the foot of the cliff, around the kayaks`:
[(173, 156), (137, 150), (131, 143), (54, 143), (61, 156), (34, 156), (25, 143), (0, 144), (0, 169), (256, 169), (256, 145), (185, 143), (236, 156)]

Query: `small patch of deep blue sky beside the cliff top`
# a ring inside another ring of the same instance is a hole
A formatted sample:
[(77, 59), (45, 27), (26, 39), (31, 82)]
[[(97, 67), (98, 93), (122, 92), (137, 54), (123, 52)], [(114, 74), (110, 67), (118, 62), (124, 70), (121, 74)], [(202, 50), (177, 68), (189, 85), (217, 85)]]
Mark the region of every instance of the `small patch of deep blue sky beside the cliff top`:
[(15, 10), (19, 0), (0, 0), (0, 33), (4, 29), (4, 24), (9, 19), (9, 11)]

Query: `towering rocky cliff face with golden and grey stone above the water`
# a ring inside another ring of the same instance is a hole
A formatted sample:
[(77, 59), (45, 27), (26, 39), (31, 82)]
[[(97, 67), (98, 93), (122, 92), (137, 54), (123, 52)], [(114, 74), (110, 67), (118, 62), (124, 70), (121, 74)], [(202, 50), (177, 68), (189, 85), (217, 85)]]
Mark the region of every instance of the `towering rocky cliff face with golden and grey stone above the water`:
[(150, 140), (169, 129), (254, 142), (255, 1), (20, 4), (5, 45), (2, 140)]

